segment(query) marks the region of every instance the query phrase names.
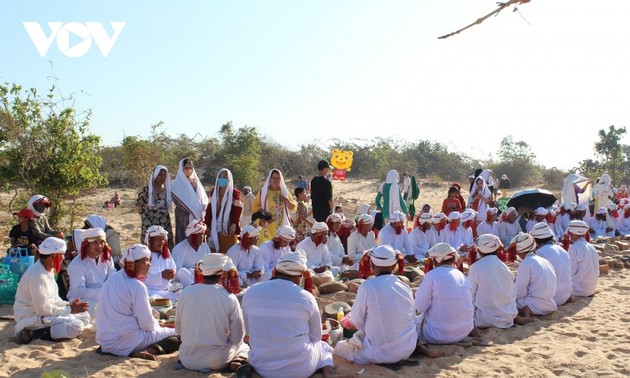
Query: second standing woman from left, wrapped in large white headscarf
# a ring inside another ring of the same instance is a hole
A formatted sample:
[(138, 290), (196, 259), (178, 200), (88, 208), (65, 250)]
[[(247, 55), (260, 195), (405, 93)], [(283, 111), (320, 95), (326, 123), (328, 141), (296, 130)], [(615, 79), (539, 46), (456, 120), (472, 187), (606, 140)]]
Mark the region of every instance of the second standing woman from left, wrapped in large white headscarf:
[(175, 244), (186, 239), (186, 227), (193, 219), (203, 219), (208, 196), (188, 158), (179, 162), (171, 196), (175, 204)]

